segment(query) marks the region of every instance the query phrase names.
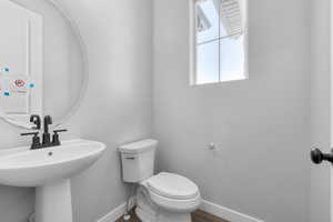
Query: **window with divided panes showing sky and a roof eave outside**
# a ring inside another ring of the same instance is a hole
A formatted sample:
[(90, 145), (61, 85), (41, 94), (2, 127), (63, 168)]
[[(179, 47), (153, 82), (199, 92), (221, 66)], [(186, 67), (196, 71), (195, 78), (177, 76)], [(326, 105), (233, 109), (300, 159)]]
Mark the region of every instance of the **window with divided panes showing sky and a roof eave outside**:
[(192, 84), (244, 80), (246, 0), (194, 0)]

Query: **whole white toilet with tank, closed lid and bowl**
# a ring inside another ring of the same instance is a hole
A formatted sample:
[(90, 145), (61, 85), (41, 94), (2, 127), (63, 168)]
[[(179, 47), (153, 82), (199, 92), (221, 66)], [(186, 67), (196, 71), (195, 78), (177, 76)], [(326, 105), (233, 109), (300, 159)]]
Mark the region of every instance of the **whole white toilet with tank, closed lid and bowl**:
[(135, 212), (142, 222), (191, 222), (201, 203), (198, 185), (174, 173), (154, 175), (157, 140), (142, 140), (119, 148), (123, 181), (137, 183)]

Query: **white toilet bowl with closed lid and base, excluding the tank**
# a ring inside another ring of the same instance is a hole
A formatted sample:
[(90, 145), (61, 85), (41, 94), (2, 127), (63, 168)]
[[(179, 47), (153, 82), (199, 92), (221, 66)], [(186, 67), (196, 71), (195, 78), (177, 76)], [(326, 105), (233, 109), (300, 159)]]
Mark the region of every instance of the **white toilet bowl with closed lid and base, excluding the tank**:
[(189, 179), (163, 172), (140, 183), (137, 201), (137, 214), (144, 222), (191, 222), (201, 195)]

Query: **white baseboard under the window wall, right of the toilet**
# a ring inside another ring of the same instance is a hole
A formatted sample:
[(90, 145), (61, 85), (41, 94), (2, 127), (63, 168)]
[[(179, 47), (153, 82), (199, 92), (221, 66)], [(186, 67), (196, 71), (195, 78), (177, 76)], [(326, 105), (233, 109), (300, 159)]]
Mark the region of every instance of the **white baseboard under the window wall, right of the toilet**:
[(234, 210), (218, 205), (215, 203), (203, 200), (200, 210), (205, 211), (212, 215), (228, 220), (230, 222), (264, 222), (262, 220), (252, 218), (250, 215), (236, 212)]

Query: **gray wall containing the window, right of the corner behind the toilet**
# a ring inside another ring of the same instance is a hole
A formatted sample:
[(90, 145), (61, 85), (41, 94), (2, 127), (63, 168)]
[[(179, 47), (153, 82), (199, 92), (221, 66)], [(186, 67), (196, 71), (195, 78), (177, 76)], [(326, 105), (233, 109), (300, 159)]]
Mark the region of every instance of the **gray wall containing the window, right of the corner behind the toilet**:
[(189, 87), (189, 0), (153, 1), (159, 168), (191, 178), (220, 205), (306, 222), (310, 1), (249, 1), (250, 79), (201, 87)]

